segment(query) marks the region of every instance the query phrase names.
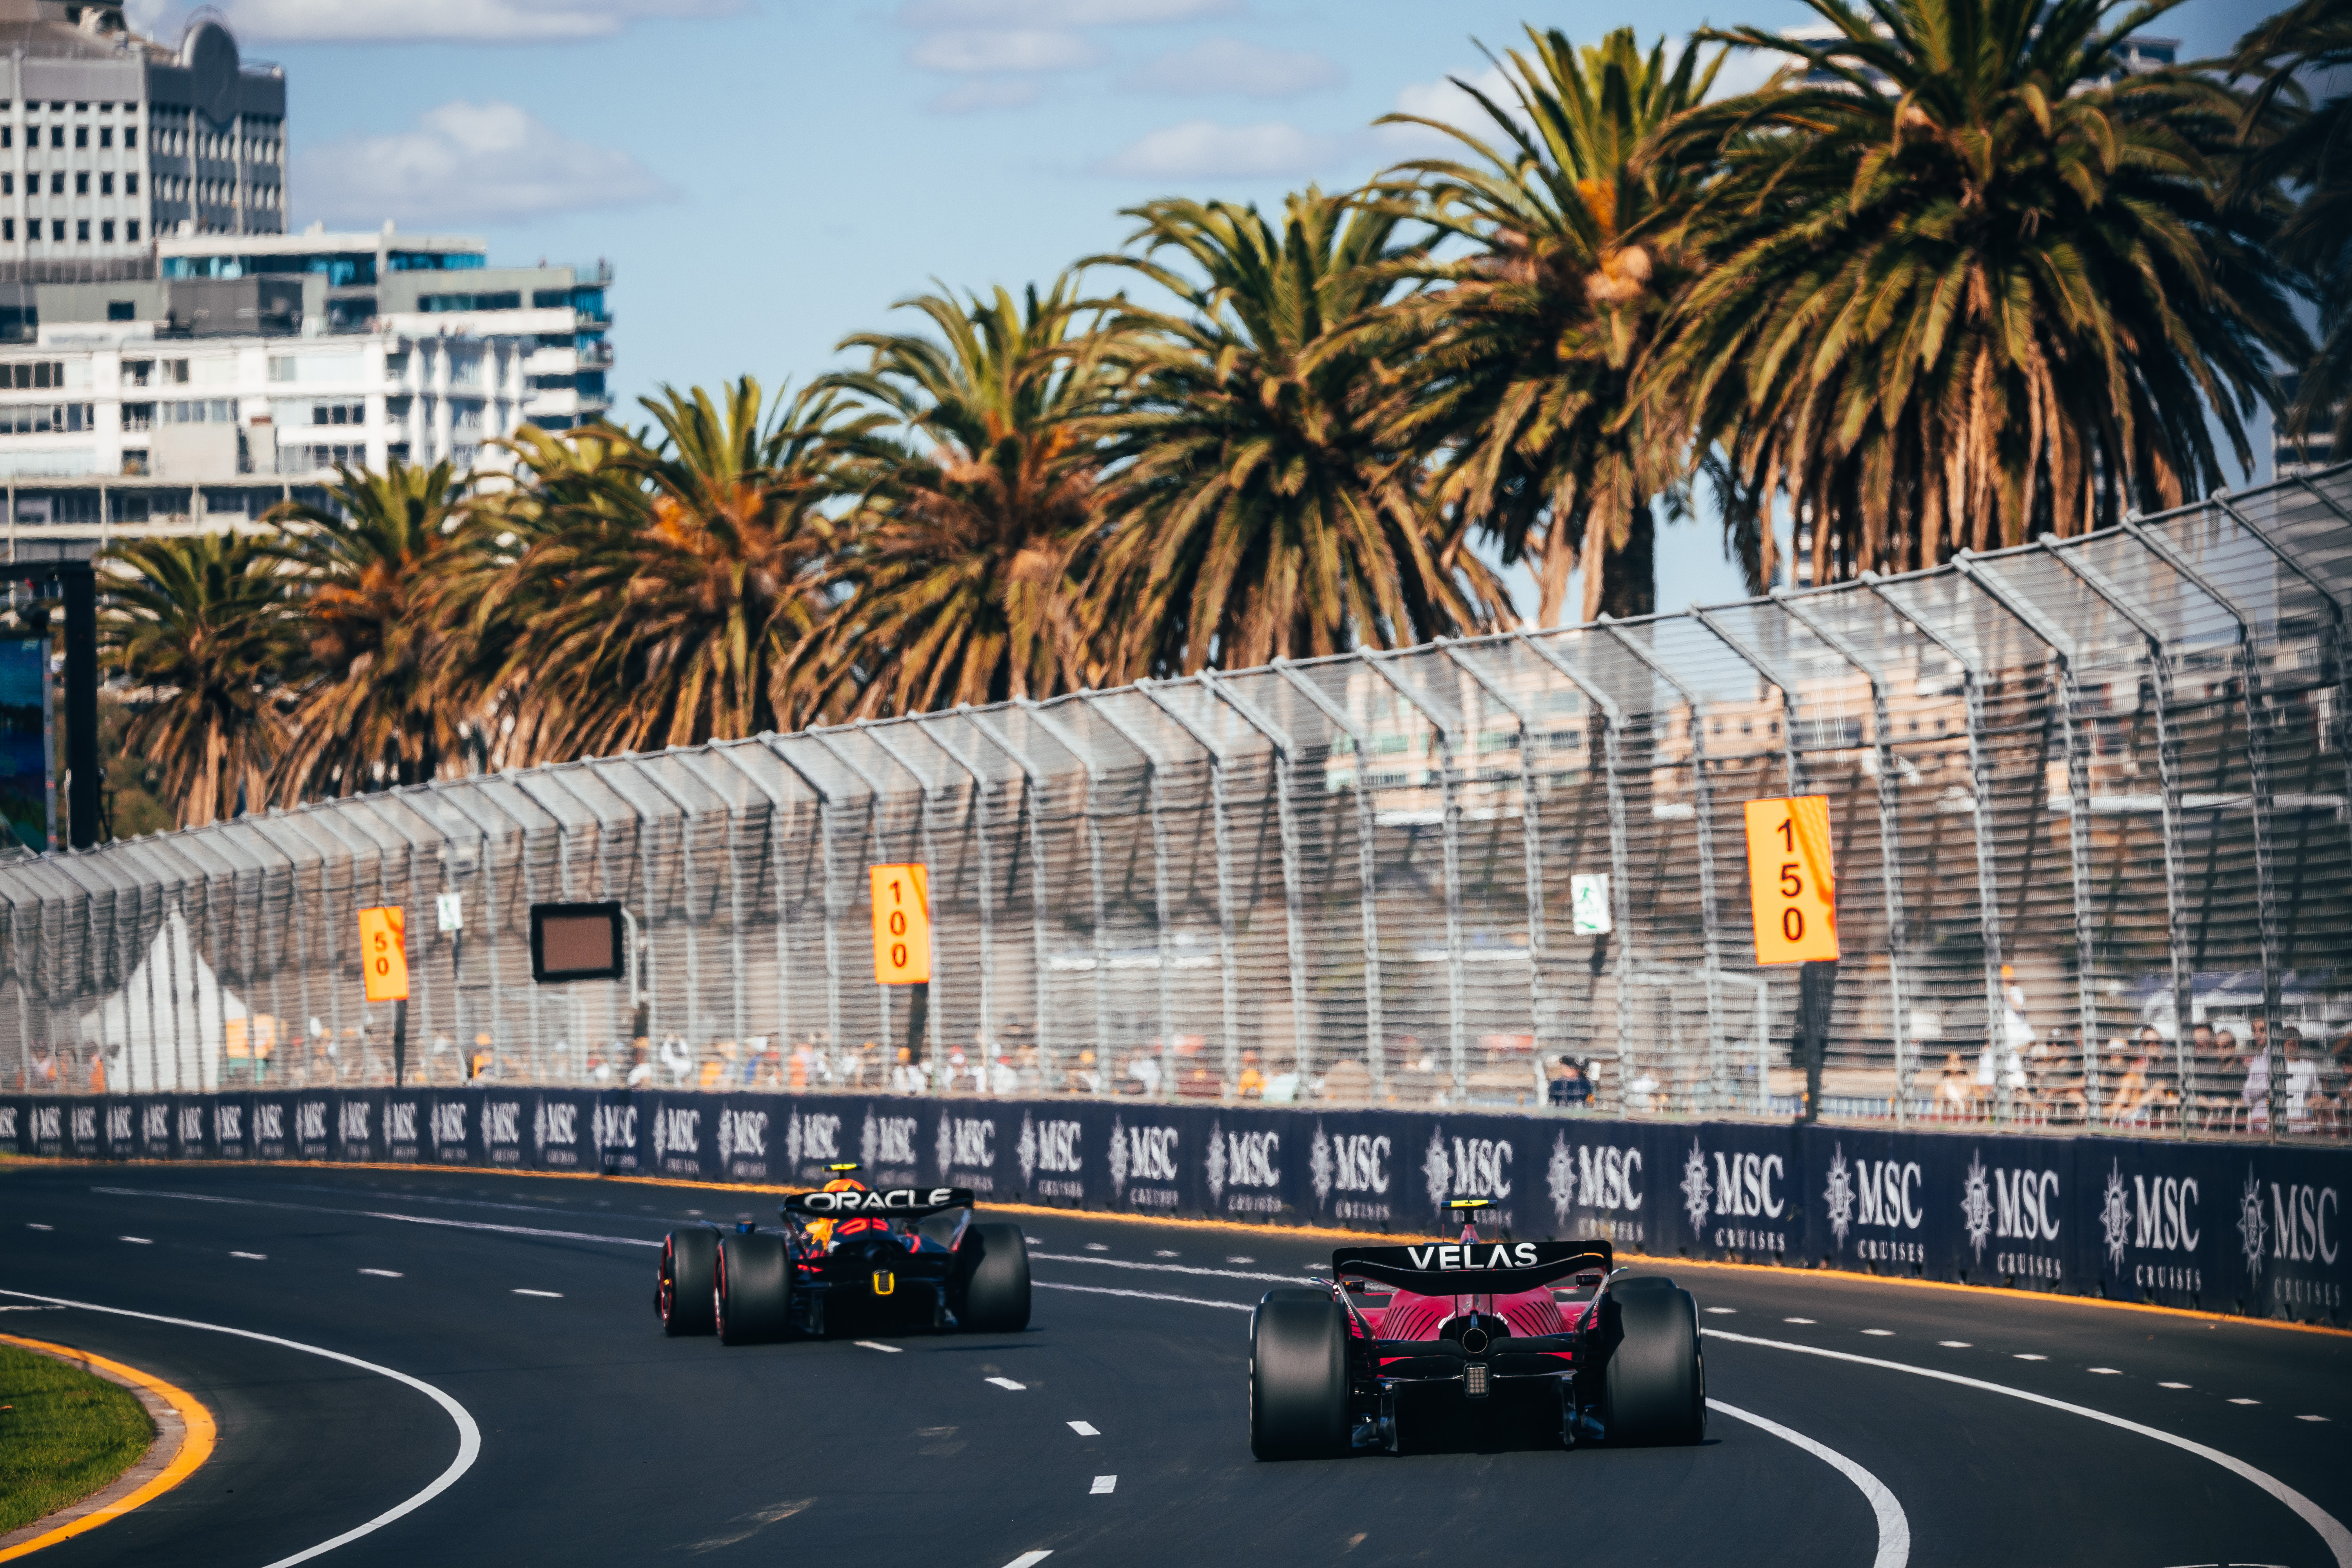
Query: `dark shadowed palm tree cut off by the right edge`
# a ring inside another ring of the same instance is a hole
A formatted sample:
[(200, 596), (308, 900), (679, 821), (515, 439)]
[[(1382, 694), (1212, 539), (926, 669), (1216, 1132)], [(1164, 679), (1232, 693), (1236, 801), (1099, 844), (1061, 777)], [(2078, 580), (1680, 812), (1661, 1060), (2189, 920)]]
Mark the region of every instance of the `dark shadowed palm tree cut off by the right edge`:
[[(2263, 78), (2239, 134), (2249, 143), (2241, 190), (2279, 181), (2303, 188), (2303, 202), (2279, 228), (2279, 259), (2305, 280), (2319, 306), (2319, 353), (2298, 381), (2281, 421), (2291, 435), (2326, 428), (2343, 458), (2352, 442), (2352, 96), (2307, 106), (2298, 75), (2352, 66), (2352, 2), (2303, 0), (2239, 40), (2237, 75)], [(2258, 197), (2260, 200), (2260, 197)]]

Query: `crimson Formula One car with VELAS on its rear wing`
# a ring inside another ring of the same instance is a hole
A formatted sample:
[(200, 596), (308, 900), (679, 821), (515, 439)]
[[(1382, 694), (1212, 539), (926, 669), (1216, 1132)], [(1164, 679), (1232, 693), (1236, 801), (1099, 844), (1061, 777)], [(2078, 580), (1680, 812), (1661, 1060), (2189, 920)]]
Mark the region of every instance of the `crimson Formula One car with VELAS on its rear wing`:
[(1463, 1415), (1531, 1396), (1557, 1399), (1571, 1448), (1705, 1436), (1689, 1291), (1628, 1279), (1606, 1241), (1482, 1241), (1465, 1220), (1461, 1241), (1343, 1246), (1322, 1286), (1265, 1293), (1249, 1324), (1254, 1455), (1397, 1453), (1399, 1403)]

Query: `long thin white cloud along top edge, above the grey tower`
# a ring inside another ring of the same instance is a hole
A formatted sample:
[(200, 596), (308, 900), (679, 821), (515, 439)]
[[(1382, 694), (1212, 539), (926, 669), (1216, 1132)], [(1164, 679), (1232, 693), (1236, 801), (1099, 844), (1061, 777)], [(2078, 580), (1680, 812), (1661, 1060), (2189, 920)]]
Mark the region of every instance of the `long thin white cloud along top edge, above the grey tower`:
[[(176, 40), (183, 0), (127, 7), (132, 26)], [(746, 0), (223, 0), (238, 42), (562, 42), (612, 38), (633, 21), (731, 16)]]

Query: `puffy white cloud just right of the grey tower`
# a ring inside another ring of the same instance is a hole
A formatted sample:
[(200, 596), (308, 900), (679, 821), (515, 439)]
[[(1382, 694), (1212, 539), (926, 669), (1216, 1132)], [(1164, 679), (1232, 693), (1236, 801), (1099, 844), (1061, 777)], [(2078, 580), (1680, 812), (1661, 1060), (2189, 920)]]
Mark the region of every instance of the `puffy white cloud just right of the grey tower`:
[(294, 200), (306, 219), (402, 226), (539, 219), (670, 195), (619, 148), (572, 141), (513, 103), (442, 103), (416, 129), (353, 136), (301, 153)]

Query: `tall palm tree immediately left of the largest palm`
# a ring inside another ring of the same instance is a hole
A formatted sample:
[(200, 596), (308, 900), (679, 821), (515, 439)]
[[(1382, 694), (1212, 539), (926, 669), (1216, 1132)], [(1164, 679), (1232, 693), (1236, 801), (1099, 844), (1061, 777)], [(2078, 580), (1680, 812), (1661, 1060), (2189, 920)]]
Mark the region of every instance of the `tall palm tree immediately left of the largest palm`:
[(1425, 158), (1376, 181), (1463, 242), (1446, 261), (1399, 268), (1430, 287), (1376, 315), (1423, 376), (1397, 433), (1442, 454), (1437, 498), (1494, 536), (1505, 562), (1534, 557), (1536, 618), (1559, 618), (1583, 567), (1583, 618), (1653, 609), (1651, 498), (1684, 468), (1682, 428), (1635, 386), (1693, 256), (1675, 226), (1705, 158), (1637, 162), (1651, 134), (1715, 85), (1722, 52), (1668, 63), (1632, 28), (1578, 49), (1526, 31), (1503, 66), (1510, 103), (1470, 82), (1494, 139), (1439, 120), (1388, 115), (1461, 141), (1475, 162)]

